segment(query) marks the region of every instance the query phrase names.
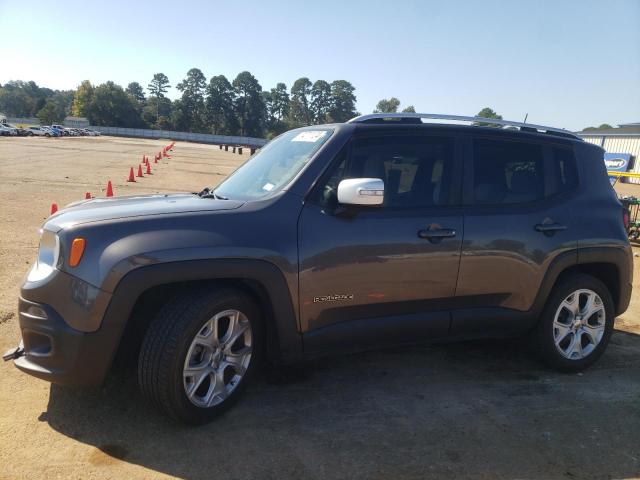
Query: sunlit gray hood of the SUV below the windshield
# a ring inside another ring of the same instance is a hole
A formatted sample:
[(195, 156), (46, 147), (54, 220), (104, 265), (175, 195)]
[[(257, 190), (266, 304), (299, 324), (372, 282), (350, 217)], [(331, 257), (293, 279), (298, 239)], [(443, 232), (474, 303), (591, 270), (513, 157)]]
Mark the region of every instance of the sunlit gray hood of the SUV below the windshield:
[(49, 217), (45, 227), (57, 232), (74, 225), (118, 218), (233, 210), (244, 203), (238, 200), (200, 198), (188, 193), (94, 198), (67, 205)]

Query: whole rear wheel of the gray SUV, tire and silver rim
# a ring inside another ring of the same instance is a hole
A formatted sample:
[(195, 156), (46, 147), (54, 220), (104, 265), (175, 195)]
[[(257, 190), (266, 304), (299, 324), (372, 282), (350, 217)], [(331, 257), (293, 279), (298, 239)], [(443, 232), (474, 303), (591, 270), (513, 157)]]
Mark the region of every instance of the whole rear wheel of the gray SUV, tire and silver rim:
[(614, 316), (607, 287), (590, 275), (572, 274), (551, 292), (534, 331), (535, 347), (557, 370), (584, 370), (607, 348)]

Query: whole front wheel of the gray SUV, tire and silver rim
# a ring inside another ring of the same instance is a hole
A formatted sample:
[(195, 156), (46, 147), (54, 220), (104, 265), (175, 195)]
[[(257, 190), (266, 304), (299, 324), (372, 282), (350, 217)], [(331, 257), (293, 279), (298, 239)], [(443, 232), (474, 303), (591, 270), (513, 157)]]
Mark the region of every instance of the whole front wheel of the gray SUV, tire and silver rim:
[(238, 399), (261, 355), (253, 299), (228, 288), (183, 293), (153, 320), (140, 351), (143, 394), (171, 417), (203, 424)]

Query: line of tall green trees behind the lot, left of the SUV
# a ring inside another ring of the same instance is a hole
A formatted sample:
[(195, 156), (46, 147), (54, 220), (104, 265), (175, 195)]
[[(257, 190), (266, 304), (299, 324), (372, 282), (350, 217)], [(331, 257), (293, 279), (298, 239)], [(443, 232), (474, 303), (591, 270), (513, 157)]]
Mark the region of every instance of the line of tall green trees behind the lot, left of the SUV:
[(57, 91), (33, 81), (10, 81), (0, 85), (0, 112), (38, 117), (43, 124), (73, 115), (97, 126), (267, 138), (291, 128), (344, 122), (358, 115), (355, 87), (346, 80), (311, 82), (302, 77), (291, 89), (278, 83), (263, 90), (247, 71), (232, 81), (216, 75), (207, 82), (201, 70), (192, 68), (176, 84), (180, 98), (172, 101), (166, 96), (170, 87), (164, 73), (156, 73), (146, 90), (138, 82), (123, 88), (112, 81), (93, 85), (84, 80), (75, 91)]

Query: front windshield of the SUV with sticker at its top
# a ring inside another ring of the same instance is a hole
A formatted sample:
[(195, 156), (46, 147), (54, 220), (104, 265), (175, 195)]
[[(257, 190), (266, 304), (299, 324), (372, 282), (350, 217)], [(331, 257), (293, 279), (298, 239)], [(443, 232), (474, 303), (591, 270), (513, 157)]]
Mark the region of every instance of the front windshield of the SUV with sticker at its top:
[(234, 200), (256, 200), (282, 190), (332, 133), (332, 129), (318, 129), (280, 135), (222, 182), (215, 194)]

